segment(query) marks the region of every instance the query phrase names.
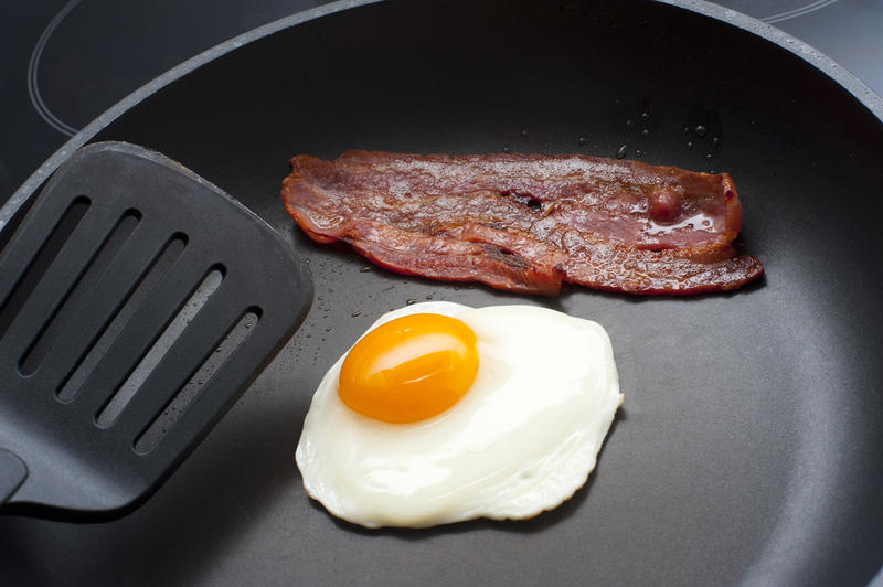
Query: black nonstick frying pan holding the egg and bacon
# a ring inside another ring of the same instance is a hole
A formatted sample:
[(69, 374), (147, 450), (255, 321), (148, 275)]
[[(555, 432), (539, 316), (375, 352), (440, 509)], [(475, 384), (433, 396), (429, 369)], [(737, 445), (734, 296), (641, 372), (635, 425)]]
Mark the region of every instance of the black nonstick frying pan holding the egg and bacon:
[[(319, 18), (321, 17), (321, 18)], [(160, 491), (119, 521), (0, 520), (12, 583), (862, 585), (883, 563), (883, 106), (827, 57), (715, 7), (343, 2), (221, 45), (86, 141), (157, 149), (309, 262), (305, 325)], [(698, 127), (703, 127), (699, 129)], [(716, 140), (715, 140), (716, 139)], [(728, 295), (538, 299), (405, 278), (310, 243), (278, 202), (295, 153), (586, 152), (728, 171), (766, 278)], [(587, 485), (524, 522), (365, 531), (302, 493), (321, 375), (408, 300), (544, 305), (604, 324), (624, 408)]]

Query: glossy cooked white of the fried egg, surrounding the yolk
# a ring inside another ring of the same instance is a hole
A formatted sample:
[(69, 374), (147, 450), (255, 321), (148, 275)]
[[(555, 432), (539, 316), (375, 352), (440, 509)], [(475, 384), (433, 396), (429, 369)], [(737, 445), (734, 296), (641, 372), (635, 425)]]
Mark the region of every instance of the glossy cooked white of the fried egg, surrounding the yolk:
[(389, 312), (369, 331), (418, 312), (475, 331), (472, 386), (434, 418), (383, 423), (340, 399), (344, 354), (319, 384), (297, 446), (307, 493), (366, 527), (525, 519), (570, 499), (623, 402), (604, 328), (532, 306), (434, 301)]

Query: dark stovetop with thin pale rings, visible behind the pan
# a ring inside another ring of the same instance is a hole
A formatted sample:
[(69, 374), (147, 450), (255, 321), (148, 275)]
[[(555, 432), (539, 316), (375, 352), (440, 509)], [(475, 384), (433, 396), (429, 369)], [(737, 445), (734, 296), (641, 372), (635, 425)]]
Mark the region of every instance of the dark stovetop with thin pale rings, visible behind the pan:
[[(3, 2), (0, 202), (117, 100), (236, 34), (322, 0)], [(883, 94), (880, 0), (719, 0), (809, 43)]]

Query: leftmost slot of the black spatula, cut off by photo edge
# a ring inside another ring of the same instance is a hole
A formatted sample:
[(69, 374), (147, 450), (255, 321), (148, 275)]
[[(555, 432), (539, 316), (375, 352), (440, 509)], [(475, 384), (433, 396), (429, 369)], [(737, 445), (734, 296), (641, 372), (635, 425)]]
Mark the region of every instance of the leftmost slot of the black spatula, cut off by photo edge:
[[(52, 265), (52, 260), (64, 247), (64, 244), (79, 224), (79, 221), (83, 220), (83, 216), (86, 215), (86, 211), (89, 209), (91, 204), (92, 202), (85, 195), (77, 196), (58, 217), (49, 238), (40, 246), (40, 249), (28, 264), (28, 267), (22, 273), (18, 282), (12, 287), (7, 298), (0, 303), (0, 337), (6, 334), (9, 325), (21, 311), (22, 307), (24, 307), (28, 298), (30, 298), (31, 294), (43, 279), (50, 265)], [(14, 248), (17, 245), (19, 245), (19, 243), (13, 242), (9, 247)], [(28, 246), (28, 243), (20, 243), (20, 245)], [(9, 249), (4, 249), (3, 254), (8, 254), (9, 252)]]

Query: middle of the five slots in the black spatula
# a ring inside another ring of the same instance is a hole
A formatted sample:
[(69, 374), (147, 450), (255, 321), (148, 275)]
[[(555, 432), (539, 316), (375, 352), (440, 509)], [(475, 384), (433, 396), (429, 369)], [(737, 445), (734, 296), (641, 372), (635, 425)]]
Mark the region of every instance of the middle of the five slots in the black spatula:
[(83, 384), (102, 361), (114, 341), (119, 338), (126, 324), (168, 275), (169, 270), (184, 252), (187, 244), (187, 235), (177, 233), (163, 245), (153, 262), (132, 286), (128, 298), (124, 300), (120, 309), (109, 320), (104, 330), (96, 335), (95, 340), (88, 345), (87, 350), (84, 351), (67, 376), (62, 380), (57, 388), (58, 399), (62, 402), (71, 402), (76, 397)]

